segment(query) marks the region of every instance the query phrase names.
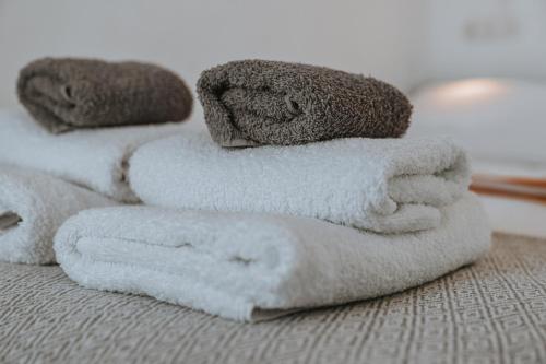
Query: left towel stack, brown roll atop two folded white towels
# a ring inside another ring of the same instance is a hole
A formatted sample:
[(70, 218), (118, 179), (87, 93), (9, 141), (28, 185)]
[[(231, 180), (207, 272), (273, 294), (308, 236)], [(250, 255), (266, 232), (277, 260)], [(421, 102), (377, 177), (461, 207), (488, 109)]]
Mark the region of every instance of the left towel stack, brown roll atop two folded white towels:
[(52, 237), (78, 211), (138, 202), (129, 157), (192, 105), (176, 74), (135, 62), (40, 59), (17, 93), (34, 118), (0, 110), (0, 260), (26, 263), (55, 262)]

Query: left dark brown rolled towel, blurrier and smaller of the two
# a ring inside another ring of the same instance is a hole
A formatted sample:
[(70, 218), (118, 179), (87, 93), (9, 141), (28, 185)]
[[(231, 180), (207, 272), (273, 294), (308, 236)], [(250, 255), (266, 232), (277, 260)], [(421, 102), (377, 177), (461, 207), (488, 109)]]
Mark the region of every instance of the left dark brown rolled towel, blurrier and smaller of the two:
[(192, 107), (191, 92), (178, 75), (132, 61), (38, 59), (21, 70), (17, 94), (34, 118), (54, 133), (180, 121)]

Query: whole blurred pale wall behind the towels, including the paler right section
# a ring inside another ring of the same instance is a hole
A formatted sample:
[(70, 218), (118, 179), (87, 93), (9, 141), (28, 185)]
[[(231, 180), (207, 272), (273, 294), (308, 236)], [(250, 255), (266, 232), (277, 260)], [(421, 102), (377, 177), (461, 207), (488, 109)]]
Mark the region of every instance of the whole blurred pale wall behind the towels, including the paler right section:
[(155, 61), (191, 85), (244, 58), (373, 74), (403, 90), (546, 79), (546, 0), (0, 0), (0, 107), (16, 105), (19, 69), (44, 56)]

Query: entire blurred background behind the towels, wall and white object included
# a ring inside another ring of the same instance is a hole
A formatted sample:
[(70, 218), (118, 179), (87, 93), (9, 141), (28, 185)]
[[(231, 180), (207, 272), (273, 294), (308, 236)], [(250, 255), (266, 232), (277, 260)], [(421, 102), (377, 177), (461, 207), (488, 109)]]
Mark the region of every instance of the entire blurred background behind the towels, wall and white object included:
[(246, 58), (373, 75), (412, 98), (408, 137), (468, 149), (497, 230), (546, 235), (545, 39), (546, 0), (0, 0), (0, 107), (44, 56), (152, 61), (190, 85)]

